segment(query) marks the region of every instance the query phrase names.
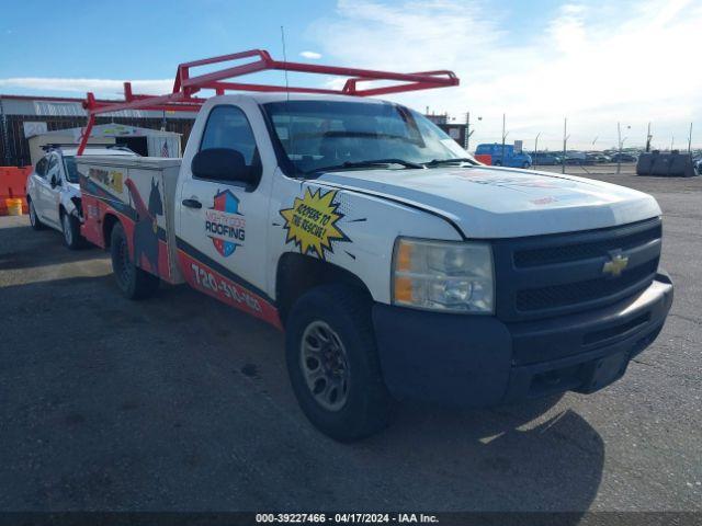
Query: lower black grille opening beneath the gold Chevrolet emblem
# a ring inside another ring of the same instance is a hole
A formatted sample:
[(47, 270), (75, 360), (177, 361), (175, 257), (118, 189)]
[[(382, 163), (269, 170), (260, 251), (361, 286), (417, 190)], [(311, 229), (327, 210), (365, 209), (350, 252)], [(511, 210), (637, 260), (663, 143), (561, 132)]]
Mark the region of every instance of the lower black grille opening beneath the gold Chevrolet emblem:
[(658, 261), (649, 261), (644, 265), (624, 272), (621, 277), (601, 277), (582, 282), (554, 285), (550, 287), (526, 288), (517, 293), (517, 310), (528, 312), (567, 305), (592, 301), (627, 289), (642, 279), (653, 277)]

